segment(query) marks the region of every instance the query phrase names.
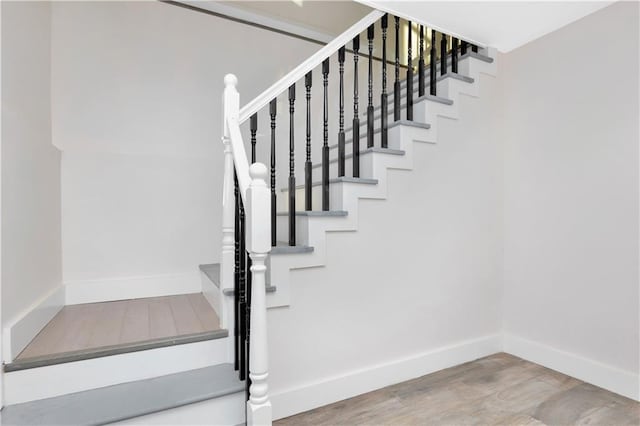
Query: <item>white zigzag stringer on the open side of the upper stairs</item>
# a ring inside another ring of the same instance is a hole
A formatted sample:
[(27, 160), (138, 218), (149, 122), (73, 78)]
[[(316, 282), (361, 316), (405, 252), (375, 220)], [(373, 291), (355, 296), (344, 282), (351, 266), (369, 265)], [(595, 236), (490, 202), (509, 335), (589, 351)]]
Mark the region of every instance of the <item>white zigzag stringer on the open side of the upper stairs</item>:
[[(398, 125), (389, 130), (389, 148), (405, 151), (404, 155), (385, 155), (371, 153), (371, 160), (363, 163), (361, 175), (377, 179), (376, 185), (362, 185), (353, 182), (338, 182), (330, 187), (331, 210), (344, 210), (347, 216), (307, 216), (298, 217), (296, 225), (300, 236), (306, 241), (300, 244), (314, 248), (310, 253), (278, 254), (269, 258), (270, 282), (276, 283), (278, 291), (267, 295), (267, 307), (286, 307), (291, 303), (290, 271), (315, 268), (326, 264), (327, 239), (330, 232), (355, 232), (358, 229), (359, 200), (387, 198), (388, 170), (413, 169), (414, 142), (436, 144), (438, 141), (439, 119), (458, 120), (458, 100), (461, 95), (479, 97), (480, 75), (496, 76), (497, 61), (495, 49), (489, 49), (493, 62), (486, 62), (472, 56), (460, 61), (459, 72), (474, 79), (467, 83), (456, 79), (443, 79), (438, 82), (438, 96), (453, 100), (445, 105), (422, 98), (414, 104), (414, 120), (429, 123), (429, 129), (411, 125)], [(314, 202), (318, 202), (319, 187), (314, 188)], [(297, 190), (296, 198), (303, 199), (304, 189)], [(283, 197), (286, 199), (286, 197)], [(286, 201), (281, 207), (287, 207)], [(315, 204), (318, 205), (318, 204)]]

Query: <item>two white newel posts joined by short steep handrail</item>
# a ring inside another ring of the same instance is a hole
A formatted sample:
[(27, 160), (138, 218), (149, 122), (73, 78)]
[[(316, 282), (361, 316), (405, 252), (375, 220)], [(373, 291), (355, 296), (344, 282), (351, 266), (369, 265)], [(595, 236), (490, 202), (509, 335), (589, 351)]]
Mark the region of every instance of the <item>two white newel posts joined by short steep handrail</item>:
[[(224, 77), (224, 180), (222, 191), (222, 259), (220, 290), (233, 288), (235, 256), (234, 169), (238, 179), (238, 192), (246, 213), (246, 250), (251, 257), (251, 314), (249, 335), (249, 400), (247, 424), (271, 425), (269, 400), (267, 302), (265, 261), (271, 251), (271, 192), (267, 187), (267, 167), (262, 163), (249, 166), (244, 141), (238, 122), (240, 96), (236, 89), (238, 79), (233, 74)], [(235, 168), (234, 168), (235, 165)], [(234, 304), (223, 298), (222, 321), (229, 328), (235, 318)]]

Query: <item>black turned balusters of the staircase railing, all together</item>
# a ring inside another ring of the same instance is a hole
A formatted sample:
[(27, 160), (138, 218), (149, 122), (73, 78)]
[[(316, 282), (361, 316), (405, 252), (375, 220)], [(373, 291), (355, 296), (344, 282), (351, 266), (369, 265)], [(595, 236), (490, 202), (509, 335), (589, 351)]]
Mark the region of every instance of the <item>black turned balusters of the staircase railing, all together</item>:
[[(366, 140), (367, 147), (374, 146), (375, 131), (380, 131), (380, 146), (387, 148), (389, 146), (389, 118), (390, 118), (390, 105), (389, 105), (389, 93), (388, 93), (388, 73), (387, 65), (394, 67), (394, 80), (393, 80), (393, 119), (399, 121), (402, 118), (402, 109), (406, 109), (406, 119), (413, 120), (414, 109), (414, 96), (415, 96), (415, 84), (414, 84), (414, 48), (417, 49), (415, 54), (417, 58), (417, 66), (415, 72), (417, 73), (418, 97), (425, 95), (427, 87), (427, 73), (429, 74), (429, 93), (433, 96), (437, 94), (437, 66), (439, 62), (440, 76), (445, 76), (447, 72), (458, 73), (459, 60), (465, 57), (471, 52), (478, 52), (478, 46), (472, 43), (468, 43), (464, 40), (460, 40), (453, 36), (447, 36), (444, 33), (438, 33), (433, 28), (427, 28), (424, 25), (417, 23), (416, 29), (417, 37), (413, 40), (413, 26), (411, 21), (405, 22), (407, 29), (406, 39), (406, 81), (405, 89), (402, 89), (402, 82), (400, 81), (400, 68), (405, 66), (401, 64), (400, 58), (404, 57), (405, 53), (401, 52), (401, 24), (403, 21), (393, 16), (395, 23), (395, 61), (387, 63), (387, 37), (389, 30), (389, 15), (385, 14), (380, 18), (380, 36), (382, 52), (382, 69), (381, 69), (381, 91), (380, 91), (380, 105), (374, 105), (373, 94), (373, 61), (378, 58), (373, 57), (374, 39), (375, 39), (375, 24), (371, 24), (367, 28), (367, 52), (361, 53), (360, 51), (360, 37), (355, 36), (351, 41), (351, 48), (349, 50), (347, 46), (340, 47), (337, 54), (338, 61), (338, 131), (337, 131), (337, 159), (334, 161), (337, 163), (336, 175), (338, 177), (344, 177), (347, 173), (347, 143), (345, 131), (345, 67), (349, 67), (349, 63), (346, 62), (346, 53), (353, 53), (353, 126), (351, 128), (351, 156), (352, 156), (352, 175), (354, 178), (360, 177), (361, 171), (361, 153), (360, 153), (360, 136), (361, 136), (361, 120), (360, 120), (360, 93), (359, 93), (359, 59), (360, 55), (366, 56), (368, 59), (367, 72), (367, 105), (366, 105)], [(430, 38), (429, 38), (429, 31)], [(426, 32), (426, 34), (425, 34)], [(404, 34), (404, 33), (402, 33)], [(439, 40), (438, 40), (439, 37)], [(450, 38), (449, 38), (450, 37)], [(427, 45), (427, 41), (430, 43)], [(449, 40), (450, 50), (449, 48)], [(439, 46), (438, 46), (439, 41)], [(415, 43), (415, 44), (414, 44)], [(438, 49), (439, 47), (439, 49)], [(427, 49), (429, 51), (427, 52)], [(439, 52), (438, 52), (439, 50)], [(428, 55), (428, 58), (427, 58)], [(450, 58), (450, 59), (449, 59)], [(427, 68), (426, 60), (429, 64)], [(451, 63), (449, 64), (449, 60)], [(321, 65), (322, 73), (322, 146), (321, 148), (321, 164), (316, 166), (320, 167), (320, 176), (316, 177), (320, 179), (320, 182), (313, 182), (314, 167), (312, 162), (312, 153), (314, 151), (312, 145), (312, 129), (314, 116), (311, 113), (311, 96), (313, 86), (313, 71), (309, 71), (304, 75), (304, 88), (306, 99), (306, 120), (305, 120), (305, 161), (304, 161), (304, 210), (313, 210), (314, 188), (319, 189), (319, 198), (321, 199), (321, 209), (328, 211), (330, 209), (330, 147), (329, 147), (329, 62), (330, 58), (325, 59)], [(450, 68), (449, 68), (450, 67)], [(348, 75), (348, 74), (347, 74)], [(302, 79), (301, 79), (302, 80)], [(302, 83), (302, 81), (300, 81)], [(285, 89), (286, 90), (286, 89)], [(281, 93), (279, 96), (284, 96)], [(287, 216), (288, 226), (288, 245), (295, 246), (299, 242), (296, 239), (296, 175), (295, 175), (295, 101), (296, 101), (296, 83), (293, 83), (288, 88), (287, 101), (289, 104), (289, 170), (288, 170), (288, 193), (284, 201), (288, 202), (288, 211), (286, 213), (280, 213)], [(380, 123), (379, 128), (376, 128), (377, 122), (375, 122), (375, 108), (380, 109)], [(277, 118), (277, 99), (274, 98), (269, 103), (269, 118), (270, 118), (270, 191), (271, 191), (271, 245), (276, 246), (277, 241), (277, 188), (276, 188), (276, 141), (278, 137), (282, 138), (282, 135), (276, 134), (276, 118)], [(333, 111), (331, 112), (333, 113)], [(363, 123), (364, 124), (364, 123)], [(364, 130), (363, 130), (364, 131)], [(250, 143), (251, 143), (251, 163), (257, 161), (257, 138), (258, 138), (258, 113), (254, 113), (250, 117), (249, 122)], [(364, 135), (362, 135), (364, 137)], [(316, 138), (319, 140), (319, 138)], [(284, 154), (284, 152), (282, 153)], [(368, 176), (367, 176), (368, 177)], [(235, 237), (235, 257), (234, 257), (234, 303), (235, 303), (235, 325), (233, 330), (234, 348), (235, 348), (235, 360), (234, 367), (239, 371), (240, 378), (247, 381), (247, 385), (250, 380), (248, 379), (248, 354), (249, 354), (249, 314), (251, 305), (251, 260), (247, 255), (245, 247), (245, 210), (243, 206), (242, 198), (239, 194), (238, 180), (235, 178), (235, 221), (234, 221), (234, 237)], [(317, 207), (316, 207), (317, 208)], [(282, 226), (283, 224), (281, 224)], [(285, 243), (286, 244), (286, 243)]]

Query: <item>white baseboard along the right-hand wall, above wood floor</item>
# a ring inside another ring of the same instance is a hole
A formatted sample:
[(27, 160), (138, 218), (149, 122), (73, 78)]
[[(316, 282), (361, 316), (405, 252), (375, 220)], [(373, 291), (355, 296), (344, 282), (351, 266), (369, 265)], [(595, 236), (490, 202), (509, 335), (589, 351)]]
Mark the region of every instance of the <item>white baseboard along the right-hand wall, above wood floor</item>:
[(640, 400), (638, 374), (510, 334), (504, 335), (504, 351), (627, 398)]

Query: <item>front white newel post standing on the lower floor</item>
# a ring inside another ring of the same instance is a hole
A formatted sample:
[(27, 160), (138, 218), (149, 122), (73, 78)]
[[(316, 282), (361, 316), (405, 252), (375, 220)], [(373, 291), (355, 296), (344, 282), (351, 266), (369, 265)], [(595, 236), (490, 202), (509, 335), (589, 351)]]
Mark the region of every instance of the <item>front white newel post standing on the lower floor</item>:
[(267, 304), (265, 260), (271, 250), (271, 196), (267, 187), (267, 167), (254, 163), (249, 167), (251, 184), (247, 191), (247, 250), (251, 256), (251, 325), (249, 334), (248, 425), (271, 425), (271, 401), (267, 356)]

